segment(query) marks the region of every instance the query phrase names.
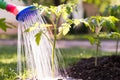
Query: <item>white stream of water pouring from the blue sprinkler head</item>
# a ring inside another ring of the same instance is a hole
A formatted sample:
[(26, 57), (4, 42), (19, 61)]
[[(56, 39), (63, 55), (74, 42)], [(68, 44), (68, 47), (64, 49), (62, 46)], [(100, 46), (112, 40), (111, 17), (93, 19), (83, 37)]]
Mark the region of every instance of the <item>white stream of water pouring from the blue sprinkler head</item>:
[[(46, 21), (36, 11), (34, 14), (24, 14), (25, 21), (19, 21), (18, 27), (18, 74), (20, 78), (26, 80), (57, 80), (63, 78), (66, 72), (64, 64), (59, 65), (62, 56), (59, 50), (55, 51), (54, 58), (54, 76), (52, 75), (52, 39), (46, 27), (41, 26)], [(25, 32), (36, 22), (39, 23), (37, 29), (31, 32)], [(45, 34), (41, 35), (40, 44), (36, 44), (35, 35), (42, 30)], [(62, 71), (61, 71), (62, 70)]]

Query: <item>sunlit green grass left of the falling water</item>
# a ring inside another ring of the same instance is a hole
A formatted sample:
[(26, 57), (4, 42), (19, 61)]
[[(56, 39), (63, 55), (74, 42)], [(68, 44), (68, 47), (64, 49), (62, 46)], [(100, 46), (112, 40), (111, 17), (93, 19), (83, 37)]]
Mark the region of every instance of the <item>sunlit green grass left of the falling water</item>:
[(0, 80), (14, 80), (17, 69), (16, 46), (0, 46)]

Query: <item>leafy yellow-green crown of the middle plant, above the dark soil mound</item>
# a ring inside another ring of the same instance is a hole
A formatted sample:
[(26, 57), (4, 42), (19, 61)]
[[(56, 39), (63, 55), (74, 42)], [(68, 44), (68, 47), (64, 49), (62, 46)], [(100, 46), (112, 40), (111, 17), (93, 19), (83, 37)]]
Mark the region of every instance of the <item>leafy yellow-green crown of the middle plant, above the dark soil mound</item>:
[(96, 31), (96, 29), (102, 29), (102, 27), (108, 27), (116, 30), (115, 22), (119, 20), (113, 16), (91, 16), (87, 18), (86, 21), (89, 23), (91, 31), (99, 33), (101, 30)]

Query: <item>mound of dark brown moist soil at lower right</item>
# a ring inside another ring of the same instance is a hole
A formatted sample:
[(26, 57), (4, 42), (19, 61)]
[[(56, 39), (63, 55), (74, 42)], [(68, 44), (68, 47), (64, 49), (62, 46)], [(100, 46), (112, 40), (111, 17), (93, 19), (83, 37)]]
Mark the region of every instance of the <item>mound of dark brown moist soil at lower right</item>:
[(81, 59), (67, 69), (68, 75), (82, 80), (120, 80), (120, 56), (99, 57), (97, 66), (94, 60)]

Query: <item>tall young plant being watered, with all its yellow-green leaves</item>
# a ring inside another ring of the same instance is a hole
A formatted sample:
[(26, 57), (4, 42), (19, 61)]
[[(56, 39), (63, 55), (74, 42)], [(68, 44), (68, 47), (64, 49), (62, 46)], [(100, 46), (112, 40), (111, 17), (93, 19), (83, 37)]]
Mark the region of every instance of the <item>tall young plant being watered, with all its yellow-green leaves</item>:
[[(84, 19), (68, 19), (68, 16), (73, 11), (73, 8), (75, 6), (74, 3), (68, 3), (68, 4), (62, 4), (59, 6), (50, 6), (50, 7), (38, 5), (38, 4), (34, 4), (34, 6), (36, 6), (36, 8), (40, 13), (43, 12), (44, 15), (47, 16), (47, 18), (51, 22), (51, 24), (40, 24), (40, 25), (43, 25), (50, 29), (52, 28), (52, 31), (53, 31), (53, 42), (52, 43), (50, 42), (50, 43), (52, 44), (51, 62), (52, 62), (52, 72), (54, 76), (54, 68), (55, 68), (54, 58), (55, 58), (55, 49), (56, 49), (57, 39), (60, 38), (61, 36), (65, 36), (69, 32), (71, 28), (71, 24), (78, 25), (80, 24), (80, 22), (83, 22), (88, 26), (88, 23), (85, 22)], [(33, 26), (28, 28), (26, 31), (29, 32), (36, 29), (37, 25), (38, 25), (38, 22), (33, 24)], [(38, 32), (35, 35), (37, 44), (39, 44), (40, 42), (40, 37), (42, 33), (44, 34), (44, 32), (40, 30), (40, 32)]]

